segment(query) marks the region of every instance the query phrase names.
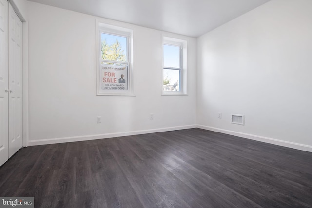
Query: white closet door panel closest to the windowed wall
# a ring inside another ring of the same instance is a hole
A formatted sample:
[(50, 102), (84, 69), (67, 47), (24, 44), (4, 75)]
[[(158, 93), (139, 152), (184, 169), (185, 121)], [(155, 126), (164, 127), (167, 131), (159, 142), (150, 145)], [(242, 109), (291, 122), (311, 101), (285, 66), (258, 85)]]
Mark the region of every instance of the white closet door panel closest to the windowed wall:
[(22, 22), (9, 4), (9, 158), (22, 147)]

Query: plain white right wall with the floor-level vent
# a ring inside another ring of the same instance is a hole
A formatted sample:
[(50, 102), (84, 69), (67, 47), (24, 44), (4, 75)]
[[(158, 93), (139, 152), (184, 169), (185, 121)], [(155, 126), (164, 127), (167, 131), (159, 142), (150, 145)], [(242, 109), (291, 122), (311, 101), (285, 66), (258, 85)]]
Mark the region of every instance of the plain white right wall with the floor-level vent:
[(272, 0), (197, 46), (201, 128), (312, 151), (311, 0)]

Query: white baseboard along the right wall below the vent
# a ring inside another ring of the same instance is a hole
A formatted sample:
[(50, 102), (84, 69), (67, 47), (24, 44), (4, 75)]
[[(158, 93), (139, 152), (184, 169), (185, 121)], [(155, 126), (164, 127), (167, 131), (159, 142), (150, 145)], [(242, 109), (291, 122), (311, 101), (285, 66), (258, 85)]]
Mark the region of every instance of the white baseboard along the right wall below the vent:
[(234, 136), (243, 137), (246, 139), (252, 139), (252, 140), (256, 140), (256, 141), (260, 141), (260, 142), (266, 142), (266, 143), (279, 145), (279, 146), (283, 146), (283, 147), (289, 147), (289, 148), (293, 148), (293, 149), (297, 149), (297, 150), (312, 152), (312, 146), (310, 146), (310, 145), (288, 142), (288, 141), (273, 139), (273, 138), (264, 137), (264, 136), (257, 136), (257, 135), (248, 134), (248, 133), (234, 132), (234, 131), (219, 129), (219, 128), (210, 127), (210, 126), (197, 125), (197, 128), (210, 130), (213, 132), (230, 134), (230, 135), (234, 135)]

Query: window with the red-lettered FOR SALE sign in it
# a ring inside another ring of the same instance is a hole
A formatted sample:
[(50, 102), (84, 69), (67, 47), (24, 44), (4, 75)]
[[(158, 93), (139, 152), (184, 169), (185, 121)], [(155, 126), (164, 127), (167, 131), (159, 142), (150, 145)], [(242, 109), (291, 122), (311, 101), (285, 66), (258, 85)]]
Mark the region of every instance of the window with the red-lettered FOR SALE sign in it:
[(133, 95), (132, 31), (98, 24), (97, 95)]

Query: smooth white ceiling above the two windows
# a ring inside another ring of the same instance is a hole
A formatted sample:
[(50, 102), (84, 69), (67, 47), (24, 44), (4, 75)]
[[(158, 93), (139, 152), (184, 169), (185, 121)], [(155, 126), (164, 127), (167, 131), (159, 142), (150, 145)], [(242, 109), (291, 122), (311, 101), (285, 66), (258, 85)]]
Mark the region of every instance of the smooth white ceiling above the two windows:
[(270, 0), (29, 0), (191, 37)]

